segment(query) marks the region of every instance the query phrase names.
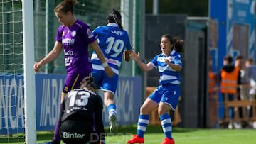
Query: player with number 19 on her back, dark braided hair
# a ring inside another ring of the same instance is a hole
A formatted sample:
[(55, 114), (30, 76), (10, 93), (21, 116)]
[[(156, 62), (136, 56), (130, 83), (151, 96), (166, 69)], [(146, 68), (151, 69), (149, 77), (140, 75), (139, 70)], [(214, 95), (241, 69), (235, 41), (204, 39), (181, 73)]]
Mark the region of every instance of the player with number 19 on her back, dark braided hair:
[(107, 64), (114, 71), (114, 77), (107, 77), (104, 72), (105, 65), (102, 65), (96, 53), (92, 53), (92, 77), (95, 78), (95, 85), (104, 92), (104, 104), (110, 118), (110, 132), (117, 131), (117, 111), (114, 104), (114, 93), (117, 89), (119, 79), (119, 67), (124, 60), (129, 61), (129, 54), (132, 46), (129, 42), (127, 31), (121, 25), (121, 14), (112, 9), (107, 26), (98, 26), (92, 33), (97, 36), (98, 43), (104, 53)]

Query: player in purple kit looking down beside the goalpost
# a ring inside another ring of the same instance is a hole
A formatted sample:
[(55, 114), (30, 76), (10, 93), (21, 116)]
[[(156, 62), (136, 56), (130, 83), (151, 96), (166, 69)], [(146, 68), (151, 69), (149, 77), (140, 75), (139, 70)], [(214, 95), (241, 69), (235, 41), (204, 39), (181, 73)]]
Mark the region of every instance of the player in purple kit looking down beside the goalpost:
[[(35, 72), (38, 72), (43, 65), (55, 60), (60, 55), (61, 50), (64, 51), (67, 77), (61, 94), (61, 101), (63, 101), (65, 94), (70, 92), (70, 90), (79, 88), (82, 79), (89, 76), (92, 72), (88, 45), (97, 53), (100, 62), (104, 65), (107, 76), (114, 76), (114, 72), (107, 65), (104, 54), (97, 44), (97, 38), (92, 34), (90, 27), (73, 16), (73, 7), (77, 3), (78, 1), (76, 0), (65, 0), (55, 7), (55, 16), (62, 23), (62, 26), (58, 28), (53, 50), (40, 62), (36, 62), (33, 67)], [(54, 143), (60, 143), (57, 126), (58, 122), (53, 138)]]

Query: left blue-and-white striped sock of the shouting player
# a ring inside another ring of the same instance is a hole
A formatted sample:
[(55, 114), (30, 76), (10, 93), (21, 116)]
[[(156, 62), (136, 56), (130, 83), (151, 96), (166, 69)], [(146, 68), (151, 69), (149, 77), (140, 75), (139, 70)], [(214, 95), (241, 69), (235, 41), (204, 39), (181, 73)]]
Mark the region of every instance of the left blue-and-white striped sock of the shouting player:
[(140, 138), (144, 137), (147, 126), (149, 125), (149, 115), (139, 115), (138, 126), (137, 126), (137, 135)]

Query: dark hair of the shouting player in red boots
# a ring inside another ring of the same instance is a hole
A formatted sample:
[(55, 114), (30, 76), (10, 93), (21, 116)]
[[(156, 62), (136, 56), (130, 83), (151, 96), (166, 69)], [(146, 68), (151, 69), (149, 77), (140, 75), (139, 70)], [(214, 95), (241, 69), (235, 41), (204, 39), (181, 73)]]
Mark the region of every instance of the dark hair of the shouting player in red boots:
[(181, 40), (179, 38), (174, 38), (174, 36), (172, 36), (170, 34), (164, 34), (161, 36), (161, 38), (168, 38), (170, 40), (171, 44), (174, 45), (172, 48), (174, 48), (174, 50), (176, 52), (184, 52), (183, 40)]

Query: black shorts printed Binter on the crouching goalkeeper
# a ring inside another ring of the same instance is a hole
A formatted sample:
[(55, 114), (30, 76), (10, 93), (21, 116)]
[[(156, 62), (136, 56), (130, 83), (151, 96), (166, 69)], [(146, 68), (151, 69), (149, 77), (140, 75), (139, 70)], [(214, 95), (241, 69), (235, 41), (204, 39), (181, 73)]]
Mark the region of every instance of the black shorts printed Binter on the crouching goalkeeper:
[(85, 144), (87, 142), (99, 143), (99, 136), (86, 121), (66, 120), (60, 124), (60, 138), (66, 144)]

